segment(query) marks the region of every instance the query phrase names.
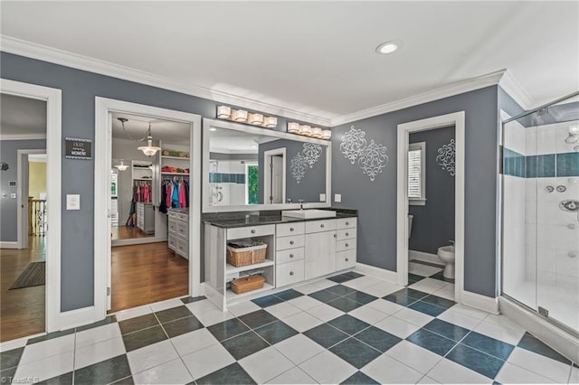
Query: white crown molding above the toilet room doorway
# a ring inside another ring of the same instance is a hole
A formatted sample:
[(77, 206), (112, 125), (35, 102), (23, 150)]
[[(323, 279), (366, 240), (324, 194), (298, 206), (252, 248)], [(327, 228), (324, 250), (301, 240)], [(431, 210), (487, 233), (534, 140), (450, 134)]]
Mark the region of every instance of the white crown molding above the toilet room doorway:
[(386, 114), (403, 108), (418, 106), (419, 104), (428, 103), (429, 101), (448, 98), (475, 89), (483, 89), (485, 87), (496, 85), (503, 77), (505, 71), (506, 70), (497, 70), (479, 76), (478, 78), (462, 80), (440, 89), (432, 89), (431, 91), (423, 92), (422, 94), (414, 95), (409, 98), (396, 100), (392, 103), (386, 103), (373, 108), (363, 109), (362, 111), (354, 112), (343, 117), (337, 117), (332, 119), (331, 127), (340, 126), (356, 120), (362, 120), (366, 117), (375, 117), (377, 115)]

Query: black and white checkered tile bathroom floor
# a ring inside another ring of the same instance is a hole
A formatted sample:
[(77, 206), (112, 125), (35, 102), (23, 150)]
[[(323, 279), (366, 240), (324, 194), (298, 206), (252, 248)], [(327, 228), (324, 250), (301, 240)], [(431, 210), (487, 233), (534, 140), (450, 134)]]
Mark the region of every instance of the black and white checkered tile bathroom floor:
[(346, 273), (225, 313), (165, 301), (2, 352), (2, 382), (579, 382), (579, 367), (506, 317), (438, 296), (442, 284)]

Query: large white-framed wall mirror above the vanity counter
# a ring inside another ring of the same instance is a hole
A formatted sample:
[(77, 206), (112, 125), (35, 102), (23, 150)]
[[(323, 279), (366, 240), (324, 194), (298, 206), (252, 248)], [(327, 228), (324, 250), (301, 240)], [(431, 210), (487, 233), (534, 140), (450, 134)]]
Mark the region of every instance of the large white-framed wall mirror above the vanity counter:
[(204, 119), (203, 211), (330, 206), (327, 140)]

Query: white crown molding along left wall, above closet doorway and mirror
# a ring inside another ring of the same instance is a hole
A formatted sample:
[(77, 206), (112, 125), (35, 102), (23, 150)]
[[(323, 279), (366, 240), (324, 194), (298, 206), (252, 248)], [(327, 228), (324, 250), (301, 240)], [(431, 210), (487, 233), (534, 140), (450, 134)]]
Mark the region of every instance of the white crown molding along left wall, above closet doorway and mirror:
[(195, 84), (186, 84), (182, 81), (169, 79), (143, 70), (135, 70), (109, 61), (100, 61), (87, 56), (58, 50), (42, 44), (26, 42), (2, 34), (0, 34), (0, 51), (14, 53), (16, 55), (40, 61), (49, 61), (54, 64), (60, 64), (77, 70), (87, 70), (113, 78), (135, 81), (147, 86), (170, 89), (198, 98), (214, 100), (219, 103), (248, 108), (254, 111), (287, 117), (289, 119), (301, 120), (319, 126), (328, 127), (330, 124), (330, 119), (328, 117), (320, 117), (290, 108), (282, 108), (271, 103), (243, 98), (221, 90), (207, 89)]

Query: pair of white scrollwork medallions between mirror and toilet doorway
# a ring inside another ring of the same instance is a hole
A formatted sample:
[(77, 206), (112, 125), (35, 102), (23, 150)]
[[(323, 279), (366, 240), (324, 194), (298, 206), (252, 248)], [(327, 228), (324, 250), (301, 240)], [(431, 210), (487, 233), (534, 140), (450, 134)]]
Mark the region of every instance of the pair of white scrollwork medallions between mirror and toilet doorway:
[(350, 127), (341, 138), (340, 151), (350, 161), (358, 166), (362, 172), (375, 180), (376, 176), (382, 173), (382, 169), (388, 164), (388, 149), (383, 145), (377, 145), (374, 139), (370, 140), (370, 145), (366, 145), (365, 132), (356, 127)]

